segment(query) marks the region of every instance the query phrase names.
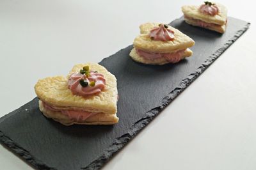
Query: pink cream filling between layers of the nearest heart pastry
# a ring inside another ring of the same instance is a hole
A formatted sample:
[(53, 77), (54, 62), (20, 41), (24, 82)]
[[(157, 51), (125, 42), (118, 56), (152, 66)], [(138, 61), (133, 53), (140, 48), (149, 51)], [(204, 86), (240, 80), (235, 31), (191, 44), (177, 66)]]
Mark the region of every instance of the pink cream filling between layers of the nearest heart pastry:
[(87, 118), (99, 113), (99, 112), (87, 112), (87, 111), (83, 111), (82, 109), (74, 109), (74, 110), (57, 109), (56, 107), (49, 105), (45, 102), (43, 102), (43, 105), (46, 109), (49, 109), (50, 111), (55, 111), (55, 112), (62, 112), (62, 114), (68, 116), (70, 120), (74, 120), (77, 122), (83, 122)]

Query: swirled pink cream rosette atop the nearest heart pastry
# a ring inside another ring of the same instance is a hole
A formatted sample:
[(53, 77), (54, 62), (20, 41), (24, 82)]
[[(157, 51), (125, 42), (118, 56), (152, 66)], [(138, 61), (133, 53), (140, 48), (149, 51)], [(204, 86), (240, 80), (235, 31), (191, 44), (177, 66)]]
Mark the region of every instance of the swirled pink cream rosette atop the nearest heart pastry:
[[(81, 79), (84, 79), (88, 82), (95, 82), (95, 86), (86, 86), (83, 87), (79, 83)], [(81, 73), (72, 73), (68, 79), (68, 88), (72, 91), (74, 95), (80, 95), (86, 97), (88, 95), (93, 95), (95, 93), (99, 93), (104, 89), (106, 84), (106, 80), (102, 73), (90, 72), (90, 76), (86, 77), (86, 75)]]

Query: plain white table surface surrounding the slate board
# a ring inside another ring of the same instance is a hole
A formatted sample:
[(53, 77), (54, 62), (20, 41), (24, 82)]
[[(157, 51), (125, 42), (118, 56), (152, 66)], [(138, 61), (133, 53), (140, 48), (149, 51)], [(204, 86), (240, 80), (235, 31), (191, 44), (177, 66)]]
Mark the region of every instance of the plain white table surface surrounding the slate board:
[[(103, 169), (256, 169), (255, 3), (220, 2), (250, 29)], [(0, 0), (0, 116), (36, 97), (38, 79), (99, 62), (143, 22), (169, 23), (200, 3)], [(32, 169), (1, 145), (0, 166)]]

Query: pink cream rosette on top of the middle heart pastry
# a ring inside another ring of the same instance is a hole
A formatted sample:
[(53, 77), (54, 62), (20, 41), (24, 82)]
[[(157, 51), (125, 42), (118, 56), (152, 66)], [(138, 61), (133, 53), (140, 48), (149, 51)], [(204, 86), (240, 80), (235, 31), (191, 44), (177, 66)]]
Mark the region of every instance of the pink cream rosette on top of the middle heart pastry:
[(152, 40), (167, 42), (174, 39), (174, 32), (160, 24), (150, 31), (149, 36)]

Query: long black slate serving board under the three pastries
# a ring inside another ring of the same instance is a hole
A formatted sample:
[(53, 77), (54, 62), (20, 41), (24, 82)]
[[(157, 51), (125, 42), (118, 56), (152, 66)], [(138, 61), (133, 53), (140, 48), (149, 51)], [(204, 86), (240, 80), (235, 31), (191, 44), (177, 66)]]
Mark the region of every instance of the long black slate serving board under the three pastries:
[(183, 18), (170, 25), (195, 40), (191, 58), (175, 65), (143, 65), (129, 58), (130, 45), (100, 62), (118, 80), (118, 124), (65, 127), (45, 118), (38, 109), (38, 98), (34, 98), (0, 119), (1, 143), (36, 169), (99, 169), (234, 43), (250, 23), (229, 17), (223, 35), (189, 26)]

